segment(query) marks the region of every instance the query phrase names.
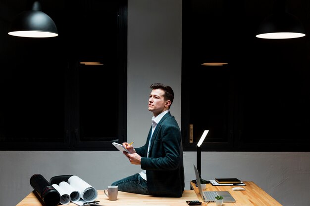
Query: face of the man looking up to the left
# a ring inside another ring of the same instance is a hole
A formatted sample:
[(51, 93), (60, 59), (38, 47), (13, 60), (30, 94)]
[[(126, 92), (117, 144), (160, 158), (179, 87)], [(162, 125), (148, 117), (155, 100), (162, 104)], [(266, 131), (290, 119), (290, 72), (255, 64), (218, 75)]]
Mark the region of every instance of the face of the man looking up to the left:
[(149, 111), (153, 112), (155, 117), (169, 108), (170, 100), (164, 100), (164, 93), (161, 89), (153, 89), (150, 94)]

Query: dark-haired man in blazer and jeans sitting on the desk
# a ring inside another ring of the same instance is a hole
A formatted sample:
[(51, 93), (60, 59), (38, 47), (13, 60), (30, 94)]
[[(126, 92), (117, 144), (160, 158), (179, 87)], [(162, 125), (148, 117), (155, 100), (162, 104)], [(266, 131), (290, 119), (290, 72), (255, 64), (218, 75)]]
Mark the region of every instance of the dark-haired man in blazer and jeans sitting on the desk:
[(118, 180), (119, 191), (161, 197), (182, 197), (184, 191), (183, 149), (180, 128), (169, 109), (174, 93), (170, 86), (154, 83), (149, 97), (153, 112), (152, 126), (146, 144), (133, 148), (127, 142), (124, 152), (131, 164), (141, 165), (138, 174)]

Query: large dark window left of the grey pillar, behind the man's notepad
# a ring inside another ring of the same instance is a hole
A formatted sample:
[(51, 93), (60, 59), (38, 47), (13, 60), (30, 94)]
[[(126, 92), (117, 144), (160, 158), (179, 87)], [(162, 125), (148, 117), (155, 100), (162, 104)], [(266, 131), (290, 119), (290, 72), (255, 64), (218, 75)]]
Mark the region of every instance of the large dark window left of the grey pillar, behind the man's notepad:
[(126, 141), (127, 1), (50, 3), (58, 37), (2, 34), (0, 148), (115, 150)]

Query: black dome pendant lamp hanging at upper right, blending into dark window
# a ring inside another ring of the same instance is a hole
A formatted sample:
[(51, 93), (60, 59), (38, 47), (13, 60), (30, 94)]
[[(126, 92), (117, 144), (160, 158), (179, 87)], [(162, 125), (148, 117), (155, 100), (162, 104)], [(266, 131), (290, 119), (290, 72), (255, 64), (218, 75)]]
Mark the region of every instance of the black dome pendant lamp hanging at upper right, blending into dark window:
[(277, 0), (274, 13), (265, 18), (256, 37), (262, 39), (292, 39), (306, 36), (301, 21), (285, 9), (285, 0)]

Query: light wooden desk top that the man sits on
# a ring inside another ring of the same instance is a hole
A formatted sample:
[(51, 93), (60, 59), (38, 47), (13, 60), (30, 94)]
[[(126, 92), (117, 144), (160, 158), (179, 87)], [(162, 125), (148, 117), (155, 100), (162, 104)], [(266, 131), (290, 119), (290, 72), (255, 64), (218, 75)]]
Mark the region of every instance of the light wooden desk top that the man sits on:
[[(245, 182), (246, 188), (243, 191), (233, 191), (233, 186), (212, 186), (207, 184), (206, 190), (229, 191), (236, 199), (236, 203), (224, 203), (223, 206), (281, 206), (275, 199), (264, 192), (254, 182)], [(98, 190), (98, 199), (102, 206), (187, 206), (186, 200), (202, 200), (196, 195), (199, 193), (194, 183), (191, 183), (194, 190), (185, 190), (181, 198), (161, 198), (149, 195), (118, 192), (116, 201), (109, 201), (103, 190)], [(31, 192), (17, 206), (43, 206), (41, 201)], [(70, 203), (66, 206), (76, 206)], [(203, 203), (203, 206), (215, 206), (215, 203)]]

